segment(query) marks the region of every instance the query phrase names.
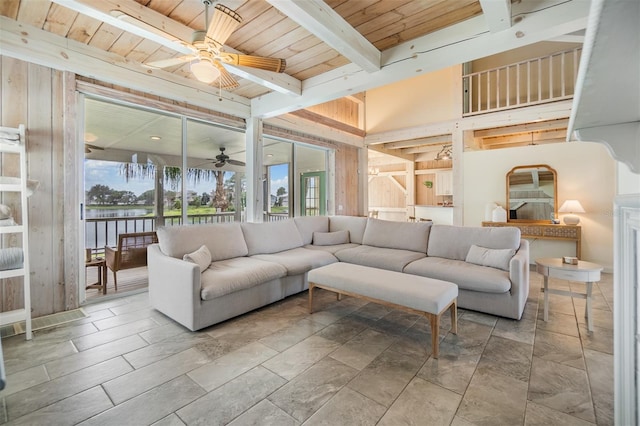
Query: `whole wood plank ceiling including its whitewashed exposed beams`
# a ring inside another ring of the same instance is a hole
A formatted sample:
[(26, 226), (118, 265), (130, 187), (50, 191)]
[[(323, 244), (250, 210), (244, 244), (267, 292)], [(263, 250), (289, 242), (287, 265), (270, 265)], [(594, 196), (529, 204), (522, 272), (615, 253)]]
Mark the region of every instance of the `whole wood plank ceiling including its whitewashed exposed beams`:
[[(583, 0), (222, 0), (242, 17), (224, 50), (282, 58), (287, 66), (276, 74), (225, 65), (239, 85), (219, 91), (216, 82), (197, 81), (188, 63), (143, 66), (189, 52), (176, 40), (189, 43), (205, 27), (202, 1), (2, 0), (1, 53), (240, 118), (269, 119), (304, 108), (317, 114), (340, 98), (362, 103), (358, 93), (375, 87), (570, 34), (586, 27), (589, 9)], [(364, 135), (361, 123), (350, 126), (333, 127)], [(530, 143), (531, 129), (521, 133), (521, 142)], [(376, 149), (410, 158), (449, 136)], [(477, 143), (502, 142), (488, 136)]]

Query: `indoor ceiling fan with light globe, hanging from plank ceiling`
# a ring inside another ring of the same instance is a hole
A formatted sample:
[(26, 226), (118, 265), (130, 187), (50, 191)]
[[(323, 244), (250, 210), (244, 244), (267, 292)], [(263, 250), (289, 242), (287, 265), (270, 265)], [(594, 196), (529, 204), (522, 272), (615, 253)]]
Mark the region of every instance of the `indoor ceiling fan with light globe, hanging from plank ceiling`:
[(209, 5), (212, 0), (202, 0), (202, 3), (205, 5), (206, 30), (194, 31), (191, 43), (185, 43), (193, 53), (148, 62), (145, 65), (152, 68), (166, 68), (190, 62), (191, 72), (198, 80), (207, 84), (218, 80), (220, 87), (225, 89), (238, 87), (238, 82), (225, 69), (224, 64), (284, 72), (286, 67), (284, 59), (224, 52), (224, 43), (242, 23), (242, 17), (228, 7), (217, 4), (209, 23)]

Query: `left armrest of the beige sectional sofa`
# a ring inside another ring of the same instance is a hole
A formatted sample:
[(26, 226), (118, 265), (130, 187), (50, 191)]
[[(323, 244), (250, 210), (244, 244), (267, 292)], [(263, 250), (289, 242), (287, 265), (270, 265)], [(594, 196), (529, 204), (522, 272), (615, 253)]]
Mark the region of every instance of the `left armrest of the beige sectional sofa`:
[(200, 309), (200, 268), (167, 256), (158, 244), (147, 248), (149, 301), (153, 308), (195, 330)]

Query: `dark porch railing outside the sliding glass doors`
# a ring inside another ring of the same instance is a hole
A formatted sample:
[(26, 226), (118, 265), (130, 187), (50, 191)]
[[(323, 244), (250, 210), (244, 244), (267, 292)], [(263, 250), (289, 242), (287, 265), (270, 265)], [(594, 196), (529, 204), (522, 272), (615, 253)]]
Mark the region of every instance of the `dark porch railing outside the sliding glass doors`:
[[(127, 216), (85, 220), (85, 248), (102, 252), (104, 246), (116, 246), (118, 235), (155, 231), (157, 216)], [(235, 221), (234, 212), (187, 216), (188, 223), (223, 223)], [(166, 226), (181, 225), (182, 216), (164, 216)]]

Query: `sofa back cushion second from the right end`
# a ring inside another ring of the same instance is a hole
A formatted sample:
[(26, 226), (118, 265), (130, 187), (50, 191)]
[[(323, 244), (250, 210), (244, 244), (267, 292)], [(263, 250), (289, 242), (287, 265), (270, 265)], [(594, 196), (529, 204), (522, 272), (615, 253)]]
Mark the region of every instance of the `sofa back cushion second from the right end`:
[(393, 222), (369, 218), (362, 244), (427, 253), (431, 223)]

